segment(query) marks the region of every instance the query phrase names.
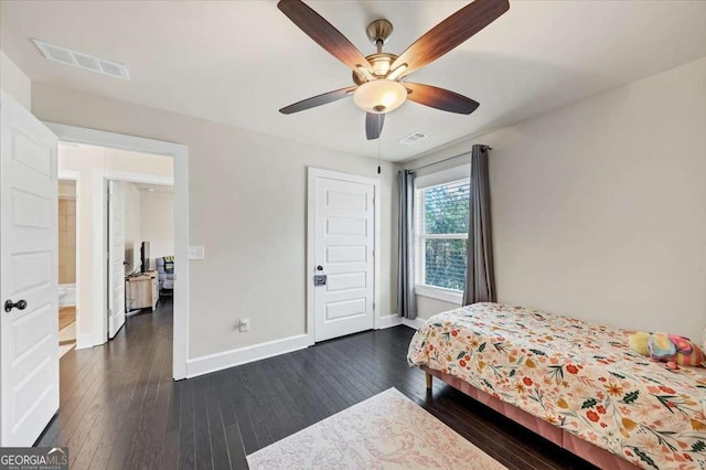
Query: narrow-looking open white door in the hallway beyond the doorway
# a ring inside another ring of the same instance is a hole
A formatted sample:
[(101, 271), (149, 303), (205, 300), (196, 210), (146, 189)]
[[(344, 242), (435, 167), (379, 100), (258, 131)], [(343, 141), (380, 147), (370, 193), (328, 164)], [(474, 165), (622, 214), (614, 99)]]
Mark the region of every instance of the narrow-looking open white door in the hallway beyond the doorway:
[(108, 338), (125, 324), (125, 188), (108, 182)]

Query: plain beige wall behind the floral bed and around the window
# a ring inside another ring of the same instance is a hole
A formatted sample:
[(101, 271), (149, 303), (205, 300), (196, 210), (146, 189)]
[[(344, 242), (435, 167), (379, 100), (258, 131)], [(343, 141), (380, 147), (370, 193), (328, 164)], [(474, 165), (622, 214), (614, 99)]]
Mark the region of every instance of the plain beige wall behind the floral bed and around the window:
[(500, 301), (700, 338), (706, 58), (406, 167), (471, 143), (493, 147)]

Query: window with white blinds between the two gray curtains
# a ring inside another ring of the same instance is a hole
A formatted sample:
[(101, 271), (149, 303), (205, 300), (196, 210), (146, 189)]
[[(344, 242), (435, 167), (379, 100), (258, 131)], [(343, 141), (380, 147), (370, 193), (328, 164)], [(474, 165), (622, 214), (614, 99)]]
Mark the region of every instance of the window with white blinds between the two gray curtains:
[(469, 174), (462, 169), (468, 165), (420, 177), (415, 205), (417, 291), (459, 303), (466, 287), (470, 197), (469, 178), (459, 179)]

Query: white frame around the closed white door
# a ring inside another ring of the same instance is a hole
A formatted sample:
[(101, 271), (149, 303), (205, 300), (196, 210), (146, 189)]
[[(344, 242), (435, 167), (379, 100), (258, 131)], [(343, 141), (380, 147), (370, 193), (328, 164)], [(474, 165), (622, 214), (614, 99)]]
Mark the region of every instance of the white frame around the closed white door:
[(315, 180), (317, 178), (329, 178), (333, 180), (345, 181), (349, 183), (371, 184), (373, 186), (373, 220), (374, 220), (374, 236), (373, 236), (373, 329), (379, 328), (379, 275), (381, 275), (381, 261), (379, 261), (379, 247), (381, 247), (381, 181), (376, 178), (361, 177), (359, 174), (343, 173), (341, 171), (324, 170), (315, 167), (307, 167), (308, 184), (307, 184), (307, 274), (304, 276), (304, 282), (307, 282), (307, 337), (309, 338), (309, 344), (312, 345), (315, 342), (315, 324), (317, 324), (317, 306), (314, 299), (314, 286), (313, 274), (315, 269), (315, 207), (317, 207), (317, 191)]

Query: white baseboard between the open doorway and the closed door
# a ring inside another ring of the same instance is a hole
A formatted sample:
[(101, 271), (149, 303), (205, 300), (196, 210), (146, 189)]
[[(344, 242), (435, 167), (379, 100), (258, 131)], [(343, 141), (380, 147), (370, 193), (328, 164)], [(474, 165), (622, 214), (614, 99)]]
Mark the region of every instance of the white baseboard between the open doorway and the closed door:
[(186, 378), (222, 371), (248, 362), (286, 354), (288, 352), (309, 348), (311, 341), (308, 334), (285, 338), (282, 340), (269, 341), (267, 343), (254, 344), (252, 346), (224, 351), (222, 353), (208, 354), (186, 361)]

